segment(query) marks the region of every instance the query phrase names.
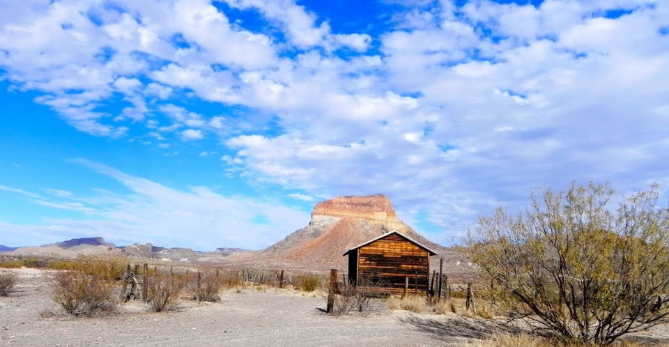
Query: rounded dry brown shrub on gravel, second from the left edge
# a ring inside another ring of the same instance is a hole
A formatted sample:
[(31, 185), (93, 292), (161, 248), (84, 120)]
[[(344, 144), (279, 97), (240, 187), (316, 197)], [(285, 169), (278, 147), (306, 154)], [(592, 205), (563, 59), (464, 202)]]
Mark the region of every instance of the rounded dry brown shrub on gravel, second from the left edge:
[(114, 309), (114, 285), (79, 271), (56, 271), (51, 274), (53, 299), (72, 316), (92, 315)]

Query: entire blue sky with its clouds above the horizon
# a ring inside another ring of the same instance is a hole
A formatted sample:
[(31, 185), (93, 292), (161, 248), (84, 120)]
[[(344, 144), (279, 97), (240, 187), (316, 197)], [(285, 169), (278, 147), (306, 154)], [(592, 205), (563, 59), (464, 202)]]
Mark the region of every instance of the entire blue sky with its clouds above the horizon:
[(666, 192), (667, 81), (660, 0), (6, 0), (0, 245), (261, 249), (376, 193), (446, 244), (537, 187)]

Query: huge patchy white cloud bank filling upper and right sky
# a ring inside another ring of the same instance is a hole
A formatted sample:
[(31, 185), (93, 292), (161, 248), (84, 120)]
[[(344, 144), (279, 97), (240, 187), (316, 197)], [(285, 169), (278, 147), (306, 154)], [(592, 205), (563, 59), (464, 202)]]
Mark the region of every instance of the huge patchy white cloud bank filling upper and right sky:
[[(385, 192), (460, 233), (535, 185), (668, 174), (661, 1), (413, 1), (367, 33), (290, 0), (226, 1), (263, 32), (204, 0), (7, 3), (6, 79), (75, 128), (164, 147), (207, 134), (226, 173), (307, 196)], [(116, 92), (127, 111), (100, 111)]]

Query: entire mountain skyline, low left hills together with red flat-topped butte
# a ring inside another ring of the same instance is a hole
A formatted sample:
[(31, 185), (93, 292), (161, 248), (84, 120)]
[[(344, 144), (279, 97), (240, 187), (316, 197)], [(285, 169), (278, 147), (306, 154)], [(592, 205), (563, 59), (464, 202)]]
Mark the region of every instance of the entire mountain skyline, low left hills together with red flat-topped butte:
[(348, 249), (394, 230), (438, 253), (438, 256), (431, 257), (432, 269), (438, 269), (440, 260), (443, 260), (449, 276), (464, 278), (472, 274), (472, 263), (466, 256), (431, 242), (404, 224), (383, 194), (339, 196), (321, 201), (314, 207), (307, 226), (261, 251), (222, 247), (214, 252), (199, 252), (183, 247), (158, 247), (151, 243), (116, 247), (97, 237), (74, 238), (40, 247), (0, 246), (0, 252), (8, 256), (72, 258), (79, 254), (116, 255), (245, 268), (328, 270), (345, 269), (348, 259), (344, 253)]

